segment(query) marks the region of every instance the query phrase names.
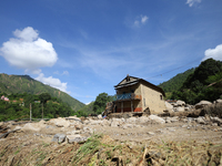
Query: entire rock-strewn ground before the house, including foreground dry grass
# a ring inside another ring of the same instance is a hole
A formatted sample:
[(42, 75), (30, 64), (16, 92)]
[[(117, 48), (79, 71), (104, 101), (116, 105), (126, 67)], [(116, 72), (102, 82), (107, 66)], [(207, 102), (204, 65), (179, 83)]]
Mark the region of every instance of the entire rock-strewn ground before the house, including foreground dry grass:
[(0, 165), (222, 165), (219, 117), (0, 123)]

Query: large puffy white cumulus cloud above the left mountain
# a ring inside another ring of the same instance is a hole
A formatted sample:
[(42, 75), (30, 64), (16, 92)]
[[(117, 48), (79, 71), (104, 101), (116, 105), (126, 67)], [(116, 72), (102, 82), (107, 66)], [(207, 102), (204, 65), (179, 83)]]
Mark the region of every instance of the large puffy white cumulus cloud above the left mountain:
[(58, 55), (52, 43), (39, 38), (33, 28), (16, 30), (13, 35), (0, 48), (0, 55), (11, 65), (39, 73), (39, 68), (52, 66), (57, 62)]

